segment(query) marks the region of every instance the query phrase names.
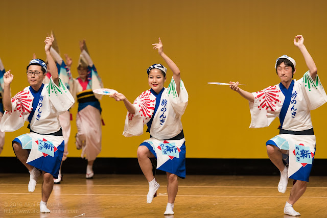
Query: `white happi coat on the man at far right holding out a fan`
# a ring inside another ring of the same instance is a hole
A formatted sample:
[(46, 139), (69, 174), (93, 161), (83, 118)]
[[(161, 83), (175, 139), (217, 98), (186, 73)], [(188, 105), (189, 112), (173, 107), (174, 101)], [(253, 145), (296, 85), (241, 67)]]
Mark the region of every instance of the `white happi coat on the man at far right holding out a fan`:
[[(279, 84), (252, 94), (254, 95), (254, 102), (249, 102), (250, 128), (267, 127), (277, 116), (279, 117), (285, 96)], [(300, 80), (294, 80), (291, 102), (282, 128), (290, 131), (303, 131), (313, 128), (310, 111), (320, 107), (326, 101), (327, 96), (318, 75), (313, 80), (307, 71)], [(289, 150), (289, 177), (299, 171), (302, 166), (305, 167), (308, 163), (312, 164), (316, 146), (314, 135), (281, 134), (271, 140), (276, 143), (279, 149)], [(300, 154), (300, 150), (306, 150), (311, 154), (304, 157)]]

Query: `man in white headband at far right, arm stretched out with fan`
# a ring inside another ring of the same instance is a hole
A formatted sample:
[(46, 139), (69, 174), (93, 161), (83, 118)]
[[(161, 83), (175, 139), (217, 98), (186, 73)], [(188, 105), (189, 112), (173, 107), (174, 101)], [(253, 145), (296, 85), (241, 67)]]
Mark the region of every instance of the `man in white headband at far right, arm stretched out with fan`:
[(278, 116), (281, 125), (279, 135), (266, 142), (271, 162), (281, 171), (278, 191), (285, 193), (288, 178), (295, 181), (284, 213), (300, 215), (293, 204), (303, 195), (316, 151), (310, 111), (327, 101), (327, 95), (317, 76), (317, 67), (303, 44), (301, 35), (295, 36), (294, 45), (302, 53), (309, 68), (299, 80), (293, 80), (295, 61), (283, 55), (276, 60), (275, 68), (281, 83), (258, 92), (247, 92), (238, 87), (239, 82), (230, 82), (230, 88), (249, 101), (250, 128), (267, 127)]

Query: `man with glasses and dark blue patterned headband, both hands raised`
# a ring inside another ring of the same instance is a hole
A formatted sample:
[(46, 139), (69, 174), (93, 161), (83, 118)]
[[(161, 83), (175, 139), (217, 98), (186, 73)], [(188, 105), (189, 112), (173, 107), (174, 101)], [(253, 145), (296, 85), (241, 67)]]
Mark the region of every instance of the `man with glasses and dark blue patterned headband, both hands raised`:
[(74, 98), (58, 76), (56, 64), (50, 54), (54, 38), (46, 37), (45, 54), (51, 72), (50, 83), (42, 83), (46, 64), (33, 59), (27, 66), (30, 86), (10, 98), (11, 70), (4, 74), (4, 109), (1, 130), (13, 132), (28, 120), (30, 133), (16, 137), (12, 144), (17, 158), (30, 172), (29, 191), (33, 192), (40, 174), (43, 175), (40, 212), (49, 213), (46, 203), (53, 189), (53, 179), (58, 178), (64, 151), (64, 140), (58, 116), (67, 111)]

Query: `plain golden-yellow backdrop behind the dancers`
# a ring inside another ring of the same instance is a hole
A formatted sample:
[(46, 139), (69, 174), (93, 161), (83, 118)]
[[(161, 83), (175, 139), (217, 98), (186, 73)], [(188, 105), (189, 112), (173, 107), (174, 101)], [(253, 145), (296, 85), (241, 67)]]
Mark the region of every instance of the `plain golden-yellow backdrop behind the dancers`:
[[(54, 30), (61, 56), (73, 58), (74, 77), (78, 40), (86, 39), (105, 87), (133, 101), (149, 88), (146, 69), (163, 62), (151, 45), (160, 37), (190, 96), (182, 118), (187, 157), (267, 158), (265, 142), (278, 134), (279, 120), (268, 128), (249, 129), (248, 102), (226, 86), (207, 82), (240, 81), (247, 84), (245, 90), (262, 90), (279, 82), (274, 64), (283, 54), (296, 60), (294, 78), (301, 78), (307, 66), (293, 45), (301, 34), (326, 88), (326, 6), (324, 0), (1, 1), (0, 57), (14, 74), (15, 94), (28, 86), (25, 69), (33, 53), (45, 58), (47, 33)], [(171, 76), (168, 71), (169, 81)], [(99, 157), (136, 157), (137, 146), (149, 135), (125, 138), (124, 104), (104, 96), (101, 106), (106, 125)], [(77, 107), (72, 110), (69, 157), (80, 156), (74, 143), (76, 112)], [(326, 105), (312, 112), (316, 158), (327, 158), (326, 113)], [(14, 156), (12, 139), (27, 131), (6, 133), (1, 156)]]

